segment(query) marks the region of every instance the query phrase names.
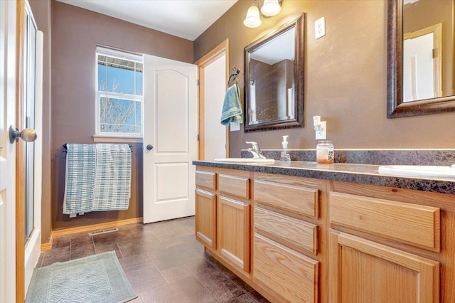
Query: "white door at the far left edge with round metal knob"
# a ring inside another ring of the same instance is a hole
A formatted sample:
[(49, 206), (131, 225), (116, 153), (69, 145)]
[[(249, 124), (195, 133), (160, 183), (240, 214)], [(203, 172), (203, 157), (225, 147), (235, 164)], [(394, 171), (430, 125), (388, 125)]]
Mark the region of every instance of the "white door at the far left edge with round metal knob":
[[(16, 302), (16, 1), (0, 1), (0, 302)], [(23, 240), (23, 239), (19, 239)]]

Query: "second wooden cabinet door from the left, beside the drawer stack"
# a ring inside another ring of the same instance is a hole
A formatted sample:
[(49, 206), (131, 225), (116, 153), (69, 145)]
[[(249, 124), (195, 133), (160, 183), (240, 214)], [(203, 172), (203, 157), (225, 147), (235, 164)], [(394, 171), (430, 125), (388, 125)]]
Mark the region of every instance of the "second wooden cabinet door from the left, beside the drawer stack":
[(220, 252), (250, 272), (250, 204), (220, 197)]

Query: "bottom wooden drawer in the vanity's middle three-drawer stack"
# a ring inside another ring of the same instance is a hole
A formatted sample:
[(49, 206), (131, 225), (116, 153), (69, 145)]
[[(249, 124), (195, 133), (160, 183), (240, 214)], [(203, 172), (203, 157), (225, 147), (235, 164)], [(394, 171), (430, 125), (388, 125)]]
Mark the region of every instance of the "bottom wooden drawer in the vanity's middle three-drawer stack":
[(255, 233), (253, 280), (280, 302), (318, 302), (319, 262)]

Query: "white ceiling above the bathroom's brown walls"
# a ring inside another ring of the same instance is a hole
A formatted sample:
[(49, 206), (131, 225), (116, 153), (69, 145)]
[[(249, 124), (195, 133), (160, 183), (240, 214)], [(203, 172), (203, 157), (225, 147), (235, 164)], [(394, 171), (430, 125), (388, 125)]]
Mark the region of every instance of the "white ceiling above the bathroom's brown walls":
[(194, 41), (237, 0), (58, 0)]

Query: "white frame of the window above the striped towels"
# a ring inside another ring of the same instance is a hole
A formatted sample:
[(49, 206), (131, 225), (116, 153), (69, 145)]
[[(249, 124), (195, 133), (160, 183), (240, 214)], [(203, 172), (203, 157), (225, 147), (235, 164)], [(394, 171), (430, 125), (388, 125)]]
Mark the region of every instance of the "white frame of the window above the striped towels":
[[(95, 142), (141, 142), (143, 136), (143, 126), (144, 126), (144, 92), (143, 95), (129, 95), (120, 92), (102, 92), (98, 90), (98, 55), (106, 55), (109, 57), (119, 58), (123, 60), (134, 61), (137, 63), (143, 63), (142, 55), (137, 55), (134, 53), (128, 53), (122, 50), (114, 50), (112, 48), (106, 48), (103, 46), (96, 46), (95, 52), (95, 91), (96, 91), (96, 102), (95, 102), (95, 121), (96, 129), (93, 139)], [(144, 69), (143, 69), (144, 72)], [(144, 86), (144, 83), (142, 83)], [(140, 133), (122, 133), (122, 132), (101, 132), (101, 97), (110, 97), (114, 99), (122, 100), (132, 100), (139, 101), (141, 104), (141, 132)], [(110, 140), (109, 138), (112, 138)]]

